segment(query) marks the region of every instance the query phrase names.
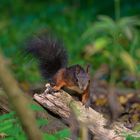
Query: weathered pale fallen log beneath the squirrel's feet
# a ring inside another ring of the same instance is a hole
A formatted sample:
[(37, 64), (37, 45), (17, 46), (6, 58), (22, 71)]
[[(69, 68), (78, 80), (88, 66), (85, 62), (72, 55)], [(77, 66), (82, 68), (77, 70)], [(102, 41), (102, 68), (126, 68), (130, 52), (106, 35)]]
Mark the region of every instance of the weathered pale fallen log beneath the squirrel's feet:
[(94, 135), (103, 140), (124, 140), (124, 132), (132, 134), (121, 123), (115, 123), (110, 128), (105, 128), (107, 120), (102, 114), (92, 108), (85, 108), (80, 101), (75, 101), (68, 93), (63, 90), (48, 94), (48, 89), (42, 94), (35, 94), (34, 99), (46, 109), (59, 115), (61, 118), (68, 119), (71, 110), (76, 114), (77, 120), (84, 124)]

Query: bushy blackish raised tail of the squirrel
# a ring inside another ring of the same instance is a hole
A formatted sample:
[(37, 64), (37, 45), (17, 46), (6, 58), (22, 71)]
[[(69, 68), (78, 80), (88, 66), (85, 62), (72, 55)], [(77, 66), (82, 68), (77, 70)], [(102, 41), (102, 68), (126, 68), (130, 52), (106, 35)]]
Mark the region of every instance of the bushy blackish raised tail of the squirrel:
[(41, 73), (49, 80), (60, 68), (67, 65), (67, 53), (63, 43), (48, 34), (41, 34), (28, 40), (27, 52), (39, 60)]

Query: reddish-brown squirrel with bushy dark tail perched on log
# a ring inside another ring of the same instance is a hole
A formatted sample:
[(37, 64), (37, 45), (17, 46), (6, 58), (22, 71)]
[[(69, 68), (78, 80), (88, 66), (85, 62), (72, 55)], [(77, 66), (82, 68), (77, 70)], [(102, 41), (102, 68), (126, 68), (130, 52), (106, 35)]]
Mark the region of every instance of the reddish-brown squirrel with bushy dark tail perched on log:
[(27, 41), (27, 52), (39, 60), (42, 76), (49, 80), (54, 91), (62, 87), (81, 94), (85, 107), (90, 105), (89, 65), (86, 69), (80, 65), (67, 67), (68, 55), (63, 42), (48, 34), (40, 34)]

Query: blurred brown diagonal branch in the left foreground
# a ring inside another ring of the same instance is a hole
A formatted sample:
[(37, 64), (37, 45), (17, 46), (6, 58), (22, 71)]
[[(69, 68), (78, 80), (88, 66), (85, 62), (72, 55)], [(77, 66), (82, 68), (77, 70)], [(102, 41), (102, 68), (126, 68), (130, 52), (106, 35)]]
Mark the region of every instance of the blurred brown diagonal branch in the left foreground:
[(13, 105), (21, 124), (30, 140), (41, 140), (42, 135), (36, 126), (33, 112), (30, 110), (30, 102), (25, 98), (18, 84), (5, 66), (3, 56), (0, 54), (0, 81)]

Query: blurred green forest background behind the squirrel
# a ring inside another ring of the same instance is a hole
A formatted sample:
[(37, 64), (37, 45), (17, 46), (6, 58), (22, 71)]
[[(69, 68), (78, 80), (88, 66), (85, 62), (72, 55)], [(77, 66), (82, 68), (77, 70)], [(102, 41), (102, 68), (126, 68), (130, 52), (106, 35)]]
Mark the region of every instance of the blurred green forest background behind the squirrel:
[(0, 47), (21, 83), (41, 82), (24, 47), (44, 30), (64, 40), (69, 65), (108, 64), (113, 79), (140, 73), (139, 0), (1, 0), (0, 12)]

